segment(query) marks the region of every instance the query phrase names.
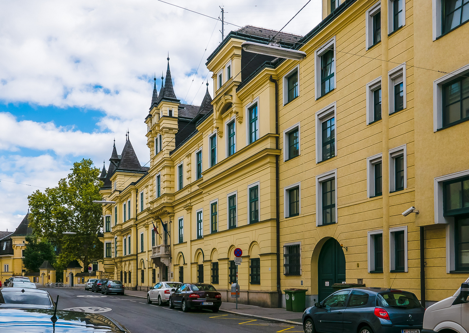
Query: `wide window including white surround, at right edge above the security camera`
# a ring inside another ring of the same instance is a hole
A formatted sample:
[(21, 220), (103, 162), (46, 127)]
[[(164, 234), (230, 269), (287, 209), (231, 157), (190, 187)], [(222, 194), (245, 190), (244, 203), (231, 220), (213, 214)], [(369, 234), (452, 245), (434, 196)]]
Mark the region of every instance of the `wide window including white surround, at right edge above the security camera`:
[(433, 132), (469, 120), (469, 65), (433, 81)]

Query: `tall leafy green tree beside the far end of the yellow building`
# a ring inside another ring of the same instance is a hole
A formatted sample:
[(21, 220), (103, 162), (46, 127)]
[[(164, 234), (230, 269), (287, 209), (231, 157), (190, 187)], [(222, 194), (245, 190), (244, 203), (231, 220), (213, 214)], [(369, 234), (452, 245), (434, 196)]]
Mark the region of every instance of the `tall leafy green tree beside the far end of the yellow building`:
[(98, 239), (103, 212), (100, 204), (92, 203), (102, 200), (99, 188), (103, 183), (98, 179), (99, 169), (92, 164), (91, 159), (75, 162), (72, 172), (56, 187), (48, 187), (44, 192), (37, 190), (28, 196), (30, 226), (37, 235), (60, 246), (59, 266), (80, 259), (86, 270), (91, 262), (103, 259), (103, 243)]

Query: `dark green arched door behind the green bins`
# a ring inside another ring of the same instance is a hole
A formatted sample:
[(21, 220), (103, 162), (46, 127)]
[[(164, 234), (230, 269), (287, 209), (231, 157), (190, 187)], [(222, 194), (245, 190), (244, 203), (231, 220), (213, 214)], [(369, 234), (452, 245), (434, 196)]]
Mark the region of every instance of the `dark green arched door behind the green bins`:
[(345, 282), (345, 255), (335, 238), (328, 239), (318, 259), (318, 300), (321, 302), (335, 290), (334, 283)]

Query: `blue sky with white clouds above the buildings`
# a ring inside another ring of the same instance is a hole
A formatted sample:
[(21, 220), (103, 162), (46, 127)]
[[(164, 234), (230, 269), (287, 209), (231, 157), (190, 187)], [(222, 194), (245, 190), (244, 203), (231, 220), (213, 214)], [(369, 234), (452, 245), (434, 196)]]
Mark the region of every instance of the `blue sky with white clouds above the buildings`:
[[(280, 30), (307, 0), (1, 1), (0, 230), (14, 231), (28, 195), (56, 186), (76, 161), (109, 165), (129, 138), (148, 162), (146, 125), (153, 77), (170, 58), (181, 103), (200, 105), (212, 73), (207, 57), (237, 26)], [(310, 3), (282, 31), (305, 35), (321, 20)], [(233, 23), (233, 24), (231, 24)], [(21, 183), (21, 184), (18, 184)]]

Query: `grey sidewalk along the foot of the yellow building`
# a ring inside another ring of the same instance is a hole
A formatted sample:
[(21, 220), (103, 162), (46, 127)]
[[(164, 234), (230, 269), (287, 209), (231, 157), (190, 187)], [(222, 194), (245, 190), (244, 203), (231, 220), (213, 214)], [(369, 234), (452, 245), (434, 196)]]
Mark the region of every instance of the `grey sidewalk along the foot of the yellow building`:
[[(126, 290), (126, 295), (146, 298), (146, 292)], [(257, 319), (272, 320), (282, 323), (301, 325), (303, 312), (290, 312), (283, 308), (262, 308), (255, 305), (238, 304), (238, 310), (235, 309), (235, 303), (223, 302), (220, 311), (240, 314)]]

